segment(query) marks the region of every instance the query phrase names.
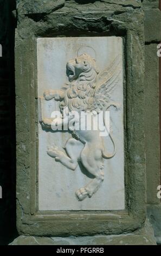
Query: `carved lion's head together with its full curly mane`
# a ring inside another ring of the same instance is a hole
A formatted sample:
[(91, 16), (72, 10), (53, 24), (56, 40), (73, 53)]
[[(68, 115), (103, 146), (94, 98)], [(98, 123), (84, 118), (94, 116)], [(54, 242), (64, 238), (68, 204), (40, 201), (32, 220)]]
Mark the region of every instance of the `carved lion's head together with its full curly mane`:
[(70, 84), (63, 88), (66, 93), (60, 103), (61, 112), (66, 107), (69, 111), (87, 111), (87, 109), (91, 109), (98, 74), (95, 59), (87, 53), (69, 60), (67, 76)]

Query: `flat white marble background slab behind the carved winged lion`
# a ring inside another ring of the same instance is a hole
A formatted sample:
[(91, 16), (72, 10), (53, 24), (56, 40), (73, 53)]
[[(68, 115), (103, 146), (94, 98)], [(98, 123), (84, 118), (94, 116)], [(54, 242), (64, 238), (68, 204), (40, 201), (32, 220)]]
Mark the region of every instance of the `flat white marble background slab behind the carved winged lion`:
[[(90, 46), (95, 51), (96, 65), (105, 70), (121, 54), (123, 62), (123, 40), (120, 37), (79, 37), (79, 38), (39, 38), (37, 39), (38, 96), (44, 90), (61, 89), (68, 81), (66, 64), (77, 56), (82, 46)], [(117, 154), (105, 160), (105, 180), (92, 198), (79, 202), (75, 191), (85, 186), (91, 178), (82, 173), (78, 166), (75, 171), (55, 162), (47, 155), (47, 147), (54, 142), (63, 147), (68, 132), (50, 132), (38, 126), (38, 205), (39, 210), (123, 210), (125, 208), (124, 185), (124, 118), (123, 118), (123, 68), (112, 94), (121, 110), (111, 108), (111, 128), (117, 147)], [(59, 109), (57, 103), (49, 102), (49, 112)], [(55, 109), (53, 109), (55, 108)], [(106, 151), (112, 150), (111, 141), (105, 138)]]

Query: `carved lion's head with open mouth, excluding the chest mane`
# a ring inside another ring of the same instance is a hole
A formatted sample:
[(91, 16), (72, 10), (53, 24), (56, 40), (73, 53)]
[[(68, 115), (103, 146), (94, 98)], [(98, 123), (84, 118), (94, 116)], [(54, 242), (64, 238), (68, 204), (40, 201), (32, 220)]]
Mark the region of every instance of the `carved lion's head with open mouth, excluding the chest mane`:
[(96, 69), (95, 59), (89, 56), (87, 53), (83, 53), (81, 56), (69, 60), (67, 63), (67, 76), (69, 82), (77, 80), (93, 80), (99, 71)]

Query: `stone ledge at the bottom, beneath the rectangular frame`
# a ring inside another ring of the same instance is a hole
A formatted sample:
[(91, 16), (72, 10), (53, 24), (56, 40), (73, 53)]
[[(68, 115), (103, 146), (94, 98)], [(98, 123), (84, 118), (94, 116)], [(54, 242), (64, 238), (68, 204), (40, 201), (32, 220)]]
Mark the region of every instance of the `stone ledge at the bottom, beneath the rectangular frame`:
[(18, 236), (10, 245), (156, 245), (149, 221), (134, 233), (123, 235), (98, 235), (80, 237)]

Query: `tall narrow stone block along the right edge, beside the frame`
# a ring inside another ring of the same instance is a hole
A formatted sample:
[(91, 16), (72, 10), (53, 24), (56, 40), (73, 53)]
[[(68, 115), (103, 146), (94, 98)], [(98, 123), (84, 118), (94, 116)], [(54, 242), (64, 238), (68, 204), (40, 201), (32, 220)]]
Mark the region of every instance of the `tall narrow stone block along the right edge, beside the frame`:
[[(157, 204), (160, 184), (159, 58), (157, 44), (145, 46), (145, 149), (147, 203)], [(153, 143), (153, 147), (152, 147)]]

